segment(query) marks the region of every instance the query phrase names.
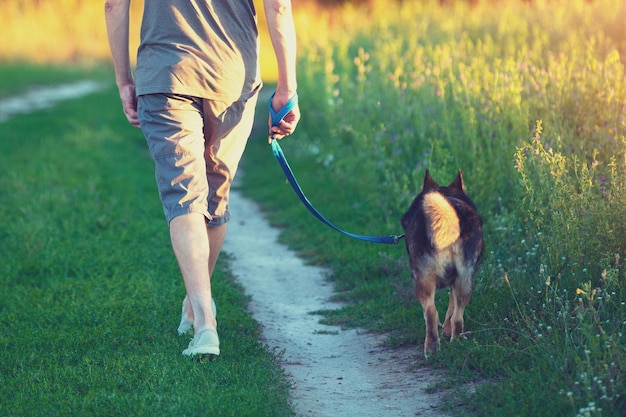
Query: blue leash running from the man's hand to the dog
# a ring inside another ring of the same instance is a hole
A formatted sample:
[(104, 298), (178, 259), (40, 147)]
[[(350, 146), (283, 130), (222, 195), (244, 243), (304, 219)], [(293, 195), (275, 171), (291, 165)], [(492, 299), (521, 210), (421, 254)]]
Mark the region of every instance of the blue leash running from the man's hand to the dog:
[[(287, 113), (293, 110), (294, 106), (298, 103), (298, 95), (296, 94), (292, 98), (290, 98), (289, 101), (278, 112), (275, 112), (274, 109), (272, 108), (273, 97), (274, 97), (274, 94), (272, 94), (272, 96), (268, 100), (267, 105), (270, 110), (270, 117), (272, 118), (272, 126), (277, 126), (280, 124), (280, 122), (283, 121)], [(343, 233), (344, 235), (350, 236), (355, 239), (365, 240), (365, 241), (373, 242), (373, 243), (387, 243), (390, 245), (395, 245), (400, 241), (400, 239), (404, 237), (403, 234), (402, 235), (390, 235), (390, 236), (356, 235), (354, 233), (346, 232), (338, 228), (334, 224), (332, 224), (330, 221), (326, 220), (326, 218), (322, 216), (315, 207), (313, 207), (313, 204), (311, 204), (309, 199), (304, 195), (302, 188), (300, 188), (300, 184), (298, 184), (298, 180), (293, 175), (293, 171), (289, 167), (289, 163), (287, 162), (287, 159), (285, 158), (285, 154), (283, 154), (282, 148), (278, 144), (278, 140), (272, 138), (271, 145), (272, 145), (272, 152), (274, 152), (274, 156), (276, 157), (278, 164), (280, 165), (283, 172), (285, 173), (285, 176), (287, 177), (287, 181), (289, 181), (289, 184), (291, 184), (291, 187), (296, 192), (296, 195), (300, 198), (300, 201), (302, 201), (304, 206), (311, 212), (311, 214), (317, 217), (319, 221), (329, 226), (330, 228), (338, 231), (339, 233)]]

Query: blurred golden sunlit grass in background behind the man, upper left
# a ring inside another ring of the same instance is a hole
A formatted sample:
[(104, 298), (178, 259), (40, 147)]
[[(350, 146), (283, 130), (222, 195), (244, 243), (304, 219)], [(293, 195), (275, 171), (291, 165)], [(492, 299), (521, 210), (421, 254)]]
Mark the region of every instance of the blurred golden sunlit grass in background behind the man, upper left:
[[(261, 71), (263, 79), (276, 79), (276, 65), (265, 26), (259, 13)], [(130, 53), (135, 61), (143, 0), (131, 2)], [(0, 60), (39, 64), (89, 64), (110, 57), (103, 0), (3, 0), (0, 2), (2, 39)]]

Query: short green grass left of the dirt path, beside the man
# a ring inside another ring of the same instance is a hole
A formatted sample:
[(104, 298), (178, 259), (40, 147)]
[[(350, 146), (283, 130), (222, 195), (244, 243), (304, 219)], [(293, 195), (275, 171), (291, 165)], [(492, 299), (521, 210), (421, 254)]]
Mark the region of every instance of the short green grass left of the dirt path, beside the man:
[[(35, 78), (100, 79), (59, 73)], [(0, 123), (0, 138), (0, 414), (291, 415), (278, 355), (259, 342), (226, 258), (213, 277), (222, 355), (181, 355), (184, 288), (152, 162), (112, 78)]]

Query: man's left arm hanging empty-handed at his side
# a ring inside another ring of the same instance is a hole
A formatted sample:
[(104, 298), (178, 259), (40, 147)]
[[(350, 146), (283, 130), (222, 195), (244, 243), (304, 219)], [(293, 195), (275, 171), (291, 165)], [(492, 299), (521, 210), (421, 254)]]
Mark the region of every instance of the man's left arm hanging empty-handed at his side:
[(120, 92), (122, 108), (128, 122), (139, 127), (137, 118), (137, 95), (135, 80), (130, 67), (129, 42), (130, 0), (106, 0), (104, 15), (106, 19), (109, 47), (115, 67), (115, 82)]

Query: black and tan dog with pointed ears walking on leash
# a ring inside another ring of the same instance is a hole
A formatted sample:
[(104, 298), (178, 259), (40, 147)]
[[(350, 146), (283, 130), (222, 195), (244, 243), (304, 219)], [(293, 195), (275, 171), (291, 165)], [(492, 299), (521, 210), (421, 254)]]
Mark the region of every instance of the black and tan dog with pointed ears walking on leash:
[(444, 337), (463, 336), (463, 311), (483, 253), (482, 220), (465, 194), (461, 170), (447, 187), (437, 184), (427, 170), (422, 191), (401, 222), (417, 298), (424, 309), (424, 355), (428, 357), (440, 347), (437, 288), (450, 287)]

